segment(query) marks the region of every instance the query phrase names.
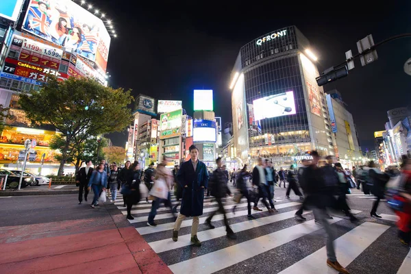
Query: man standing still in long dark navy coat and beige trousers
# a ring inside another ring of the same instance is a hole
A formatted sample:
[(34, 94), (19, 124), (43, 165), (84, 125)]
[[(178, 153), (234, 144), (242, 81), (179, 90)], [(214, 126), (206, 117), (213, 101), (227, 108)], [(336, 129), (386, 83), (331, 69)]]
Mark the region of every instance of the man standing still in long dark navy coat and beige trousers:
[(199, 149), (192, 145), (190, 147), (191, 159), (182, 163), (177, 173), (177, 180), (183, 188), (182, 206), (180, 214), (175, 221), (173, 230), (173, 241), (178, 240), (178, 231), (186, 216), (192, 216), (191, 242), (196, 247), (201, 247), (197, 238), (199, 229), (199, 216), (203, 214), (204, 189), (208, 188), (208, 171), (206, 164), (199, 161)]

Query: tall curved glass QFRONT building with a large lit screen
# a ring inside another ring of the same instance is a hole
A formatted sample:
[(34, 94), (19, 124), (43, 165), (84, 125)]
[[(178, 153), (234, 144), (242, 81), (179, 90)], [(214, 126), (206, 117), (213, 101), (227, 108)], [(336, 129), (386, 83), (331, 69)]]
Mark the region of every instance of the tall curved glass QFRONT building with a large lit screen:
[(295, 26), (240, 49), (231, 75), (234, 151), (241, 164), (271, 158), (288, 167), (316, 149), (335, 155), (324, 90), (310, 42)]

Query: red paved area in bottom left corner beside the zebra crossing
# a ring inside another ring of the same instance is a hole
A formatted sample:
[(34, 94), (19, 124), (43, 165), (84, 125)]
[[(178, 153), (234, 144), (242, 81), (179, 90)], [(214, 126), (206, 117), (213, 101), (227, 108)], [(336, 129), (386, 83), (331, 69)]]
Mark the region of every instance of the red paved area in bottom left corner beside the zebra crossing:
[(171, 273), (124, 219), (0, 227), (0, 273)]

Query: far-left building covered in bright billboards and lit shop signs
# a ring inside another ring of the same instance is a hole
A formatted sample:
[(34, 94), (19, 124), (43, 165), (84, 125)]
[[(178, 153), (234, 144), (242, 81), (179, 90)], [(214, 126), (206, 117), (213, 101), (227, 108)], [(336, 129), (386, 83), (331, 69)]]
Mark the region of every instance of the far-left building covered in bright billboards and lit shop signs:
[[(8, 169), (21, 167), (18, 155), (27, 139), (37, 143), (29, 154), (27, 171), (38, 173), (42, 166), (43, 174), (55, 174), (60, 165), (54, 157), (58, 151), (49, 147), (51, 138), (59, 133), (51, 125), (31, 123), (18, 105), (21, 93), (39, 90), (49, 75), (60, 81), (90, 77), (107, 85), (110, 27), (73, 1), (64, 1), (66, 14), (57, 16), (60, 2), (16, 1), (12, 14), (0, 11), (0, 105), (10, 108), (5, 119), (8, 127), (0, 133), (0, 165)], [(41, 12), (44, 8), (47, 12)], [(39, 14), (44, 18), (40, 23), (33, 19)], [(59, 26), (61, 21), (66, 25)], [(69, 36), (69, 31), (75, 35)], [(73, 165), (64, 170), (74, 171)]]

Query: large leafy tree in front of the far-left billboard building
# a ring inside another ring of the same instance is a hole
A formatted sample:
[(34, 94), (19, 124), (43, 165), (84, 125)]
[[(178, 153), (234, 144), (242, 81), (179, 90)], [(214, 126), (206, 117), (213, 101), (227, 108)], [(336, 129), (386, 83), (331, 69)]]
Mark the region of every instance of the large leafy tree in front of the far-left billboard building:
[(105, 87), (86, 77), (64, 82), (51, 77), (40, 90), (22, 94), (18, 103), (34, 123), (49, 123), (61, 133), (61, 175), (67, 160), (74, 158), (73, 147), (92, 136), (121, 132), (132, 122), (127, 108), (132, 100), (130, 90)]

